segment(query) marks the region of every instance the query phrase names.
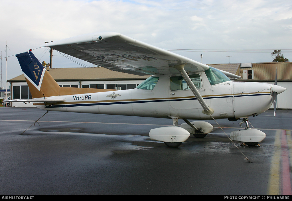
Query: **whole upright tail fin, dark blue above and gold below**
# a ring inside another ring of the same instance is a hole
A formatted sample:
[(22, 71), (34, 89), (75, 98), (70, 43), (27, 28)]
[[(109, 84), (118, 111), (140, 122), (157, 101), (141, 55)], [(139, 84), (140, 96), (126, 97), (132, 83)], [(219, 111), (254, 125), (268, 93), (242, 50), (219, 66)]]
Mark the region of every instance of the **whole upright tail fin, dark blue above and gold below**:
[(53, 77), (41, 65), (32, 51), (16, 55), (32, 98), (46, 98), (48, 96), (59, 96), (60, 86)]

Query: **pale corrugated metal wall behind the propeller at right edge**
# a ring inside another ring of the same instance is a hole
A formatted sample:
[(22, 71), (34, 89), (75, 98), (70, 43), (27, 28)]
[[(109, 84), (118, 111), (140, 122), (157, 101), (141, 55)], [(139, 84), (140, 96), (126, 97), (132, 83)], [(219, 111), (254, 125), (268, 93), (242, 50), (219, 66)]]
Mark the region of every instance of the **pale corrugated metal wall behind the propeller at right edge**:
[[(274, 84), (274, 82), (265, 82)], [(278, 82), (277, 85), (287, 90), (277, 96), (277, 109), (292, 109), (292, 82)], [(274, 108), (272, 105), (271, 108)]]

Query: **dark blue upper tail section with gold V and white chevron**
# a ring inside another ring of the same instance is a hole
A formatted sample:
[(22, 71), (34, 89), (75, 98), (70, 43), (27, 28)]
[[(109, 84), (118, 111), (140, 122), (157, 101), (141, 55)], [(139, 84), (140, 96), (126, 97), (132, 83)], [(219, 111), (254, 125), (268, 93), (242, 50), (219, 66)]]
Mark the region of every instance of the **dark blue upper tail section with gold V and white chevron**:
[(32, 51), (17, 54), (18, 62), (25, 78), (40, 91), (46, 69)]

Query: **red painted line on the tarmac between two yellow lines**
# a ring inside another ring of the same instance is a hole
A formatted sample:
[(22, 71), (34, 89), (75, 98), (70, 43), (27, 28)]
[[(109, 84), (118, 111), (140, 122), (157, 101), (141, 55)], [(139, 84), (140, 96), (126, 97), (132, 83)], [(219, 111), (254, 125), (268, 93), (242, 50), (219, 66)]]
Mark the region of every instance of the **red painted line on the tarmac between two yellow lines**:
[(281, 163), (282, 163), (282, 195), (292, 195), (291, 190), (291, 176), (290, 176), (290, 165), (289, 165), (289, 152), (286, 140), (286, 131), (282, 130), (281, 139)]

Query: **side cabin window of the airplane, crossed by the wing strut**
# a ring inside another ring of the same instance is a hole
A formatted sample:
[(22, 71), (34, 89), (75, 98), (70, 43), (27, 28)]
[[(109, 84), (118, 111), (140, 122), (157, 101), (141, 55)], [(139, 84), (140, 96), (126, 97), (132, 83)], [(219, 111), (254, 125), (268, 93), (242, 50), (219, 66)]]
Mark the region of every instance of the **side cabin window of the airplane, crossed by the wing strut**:
[[(189, 75), (189, 77), (191, 78), (192, 82), (194, 83), (197, 89), (202, 88), (200, 74), (192, 74), (192, 75)], [(181, 75), (170, 77), (171, 91), (187, 90), (187, 89), (190, 89), (190, 87), (187, 85), (187, 82), (185, 81), (185, 79), (183, 79)]]

